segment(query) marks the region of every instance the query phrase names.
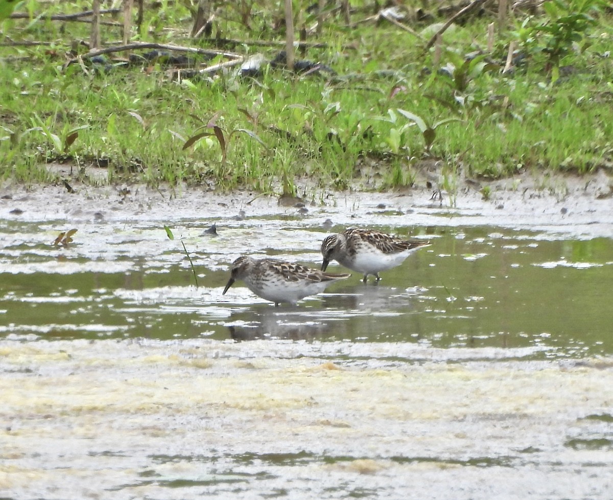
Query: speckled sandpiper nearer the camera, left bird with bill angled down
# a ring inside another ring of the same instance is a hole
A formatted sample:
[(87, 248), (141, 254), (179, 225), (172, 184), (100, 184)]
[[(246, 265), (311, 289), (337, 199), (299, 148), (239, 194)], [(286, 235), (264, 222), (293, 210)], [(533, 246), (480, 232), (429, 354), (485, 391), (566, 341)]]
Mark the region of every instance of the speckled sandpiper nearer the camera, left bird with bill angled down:
[(232, 273), (222, 295), (226, 294), (235, 280), (240, 279), (254, 294), (274, 302), (275, 306), (280, 302), (295, 305), (307, 295), (319, 294), (328, 285), (349, 276), (351, 275), (324, 273), (283, 260), (256, 260), (243, 256), (232, 263)]

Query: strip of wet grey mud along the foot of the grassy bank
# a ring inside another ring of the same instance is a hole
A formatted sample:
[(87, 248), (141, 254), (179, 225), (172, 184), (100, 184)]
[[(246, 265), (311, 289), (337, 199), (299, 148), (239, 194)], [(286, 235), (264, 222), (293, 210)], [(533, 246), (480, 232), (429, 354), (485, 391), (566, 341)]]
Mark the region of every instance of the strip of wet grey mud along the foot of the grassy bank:
[[(180, 221), (286, 216), (319, 224), (498, 225), (611, 236), (613, 178), (549, 173), (500, 181), (461, 180), (455, 192), (435, 193), (437, 183), (418, 176), (414, 189), (391, 192), (328, 192), (302, 187), (302, 198), (240, 191), (215, 194), (185, 186), (24, 186), (0, 189), (0, 217), (21, 221)], [(588, 227), (590, 226), (590, 227)]]

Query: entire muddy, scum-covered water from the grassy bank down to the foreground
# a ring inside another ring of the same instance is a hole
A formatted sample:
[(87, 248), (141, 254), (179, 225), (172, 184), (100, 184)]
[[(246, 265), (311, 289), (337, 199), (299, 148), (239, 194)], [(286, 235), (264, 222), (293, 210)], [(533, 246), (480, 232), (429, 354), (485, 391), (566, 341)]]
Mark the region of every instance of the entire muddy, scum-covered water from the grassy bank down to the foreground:
[[(610, 201), (156, 196), (2, 200), (2, 498), (611, 498)], [(221, 295), (349, 225), (433, 244)]]

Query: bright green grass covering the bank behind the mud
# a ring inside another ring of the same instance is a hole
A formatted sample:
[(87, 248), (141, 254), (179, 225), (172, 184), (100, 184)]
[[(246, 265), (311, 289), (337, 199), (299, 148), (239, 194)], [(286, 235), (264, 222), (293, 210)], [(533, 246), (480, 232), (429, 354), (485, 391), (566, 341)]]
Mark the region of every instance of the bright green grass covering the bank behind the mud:
[[(270, 22), (282, 17), (281, 7), (262, 5), (251, 6), (248, 26), (240, 21), (239, 7), (227, 7), (216, 29), (233, 39), (253, 40), (263, 32), (262, 39), (282, 40), (283, 30)], [(29, 2), (17, 12), (42, 13), (39, 8)], [(53, 13), (68, 6), (54, 2), (45, 8)], [(74, 12), (87, 8), (86, 2), (72, 5)], [(143, 40), (215, 47), (213, 41), (187, 37), (184, 7), (164, 2), (151, 12), (145, 16), (151, 32)], [(354, 18), (365, 15), (357, 12)], [(434, 50), (424, 53), (408, 32), (389, 23), (348, 29), (333, 17), (321, 37), (328, 47), (310, 49), (305, 58), (332, 66), (337, 77), (267, 68), (257, 80), (230, 71), (181, 83), (171, 81), (160, 64), (109, 72), (89, 63), (86, 70), (79, 64), (64, 68), (70, 42), (87, 39), (88, 25), (6, 20), (0, 23), (0, 42), (10, 37), (50, 45), (0, 47), (0, 178), (53, 182), (45, 166), (68, 161), (75, 177), (94, 183), (84, 167), (108, 160), (109, 182), (248, 186), (295, 194), (303, 180), (322, 188), (373, 187), (360, 174), (368, 161), (376, 161), (379, 170), (376, 187), (410, 186), (412, 165), (428, 155), (450, 172), (462, 166), (468, 175), (489, 178), (525, 169), (611, 170), (613, 71), (603, 57), (613, 38), (611, 20), (601, 15), (581, 39), (584, 50), (562, 56), (560, 65), (572, 66), (573, 72), (554, 83), (557, 73), (547, 67), (544, 42), (539, 46), (538, 40), (526, 46), (527, 68), (511, 76), (501, 75), (500, 67), (475, 69), (459, 86), (438, 72), (449, 62), (459, 67), (468, 53), (485, 48), (492, 20), (470, 20), (444, 34), (446, 50), (436, 67)], [(521, 20), (498, 37), (493, 61), (503, 64)], [(103, 40), (120, 38), (118, 28), (102, 26)], [(225, 50), (262, 51), (272, 58), (279, 48), (245, 44)], [(461, 121), (437, 127), (428, 151), (422, 131), (398, 108), (428, 125)], [(212, 119), (225, 151), (207, 127)], [(202, 132), (211, 135), (183, 147)]]

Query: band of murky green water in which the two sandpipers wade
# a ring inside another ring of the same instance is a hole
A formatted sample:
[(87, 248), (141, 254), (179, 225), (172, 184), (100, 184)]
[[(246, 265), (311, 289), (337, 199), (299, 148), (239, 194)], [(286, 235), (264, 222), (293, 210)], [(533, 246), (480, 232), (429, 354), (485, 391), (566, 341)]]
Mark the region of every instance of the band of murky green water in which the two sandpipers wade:
[[(18, 232), (24, 240), (26, 229)], [(244, 287), (221, 296), (240, 234), (228, 237), (230, 254), (218, 252), (222, 237), (215, 238), (213, 252), (197, 247), (196, 289), (176, 246), (161, 246), (161, 232), (142, 233), (143, 240), (132, 235), (120, 246), (96, 240), (50, 249), (13, 241), (2, 248), (0, 335), (427, 341), (435, 347), (548, 346), (554, 348), (550, 355), (563, 357), (613, 354), (613, 308), (603, 290), (613, 282), (607, 238), (569, 241), (492, 227), (428, 227), (424, 234), (432, 247), (382, 273), (381, 282), (363, 284), (352, 276), (294, 309), (271, 308)], [(259, 233), (249, 233), (256, 237), (255, 253), (258, 244), (268, 248), (266, 233), (261, 241)], [(318, 227), (297, 233), (299, 251), (273, 253), (318, 265), (314, 242), (324, 233)], [(118, 255), (119, 261), (107, 262)]]

